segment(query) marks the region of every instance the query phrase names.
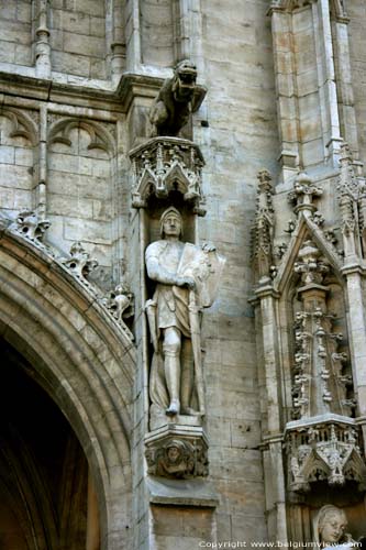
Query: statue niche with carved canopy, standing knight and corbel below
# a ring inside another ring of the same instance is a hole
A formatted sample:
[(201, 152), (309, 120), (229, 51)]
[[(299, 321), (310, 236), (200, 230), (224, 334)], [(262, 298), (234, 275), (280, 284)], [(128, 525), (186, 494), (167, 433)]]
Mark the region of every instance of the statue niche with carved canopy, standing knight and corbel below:
[[(197, 242), (197, 216), (206, 213), (201, 182), (204, 161), (197, 144), (175, 136), (152, 138), (132, 150), (130, 157), (132, 205), (141, 212), (146, 268), (142, 307), (148, 334), (148, 473), (176, 480), (203, 477), (208, 474), (208, 440), (201, 311), (209, 307), (210, 277), (214, 273), (220, 276), (223, 265), (213, 246)], [(167, 234), (169, 222), (179, 226), (173, 239)], [(204, 273), (198, 274), (202, 268)], [(202, 277), (209, 280), (208, 286)], [(190, 287), (192, 279), (196, 286)], [(202, 280), (203, 298), (197, 286)], [(168, 316), (167, 327), (175, 318), (177, 330), (159, 328), (165, 322), (162, 316)]]

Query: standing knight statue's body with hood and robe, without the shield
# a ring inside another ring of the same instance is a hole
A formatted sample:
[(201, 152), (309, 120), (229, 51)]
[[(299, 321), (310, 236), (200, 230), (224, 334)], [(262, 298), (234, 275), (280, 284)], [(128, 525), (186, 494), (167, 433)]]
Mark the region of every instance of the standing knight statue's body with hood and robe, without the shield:
[(196, 285), (192, 277), (177, 274), (185, 249), (181, 235), (181, 216), (170, 207), (160, 218), (162, 240), (145, 253), (147, 275), (156, 282), (154, 297), (146, 304), (154, 345), (151, 399), (167, 415), (195, 413), (190, 408), (195, 374), (189, 297)]

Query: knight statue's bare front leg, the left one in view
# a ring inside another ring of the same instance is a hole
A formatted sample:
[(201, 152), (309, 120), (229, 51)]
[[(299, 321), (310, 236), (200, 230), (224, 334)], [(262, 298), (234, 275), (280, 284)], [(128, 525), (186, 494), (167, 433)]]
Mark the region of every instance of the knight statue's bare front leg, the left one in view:
[(175, 327), (164, 329), (164, 372), (170, 399), (170, 405), (166, 409), (167, 415), (179, 415), (180, 413), (180, 331)]

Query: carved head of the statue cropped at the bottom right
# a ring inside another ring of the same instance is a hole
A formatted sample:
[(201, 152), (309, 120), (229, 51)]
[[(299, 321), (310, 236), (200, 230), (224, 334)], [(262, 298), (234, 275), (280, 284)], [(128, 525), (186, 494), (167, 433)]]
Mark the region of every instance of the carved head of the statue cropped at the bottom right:
[(328, 504), (318, 514), (317, 536), (322, 546), (337, 544), (347, 527), (347, 518), (341, 508)]

